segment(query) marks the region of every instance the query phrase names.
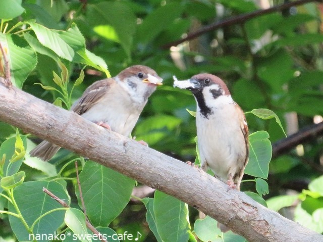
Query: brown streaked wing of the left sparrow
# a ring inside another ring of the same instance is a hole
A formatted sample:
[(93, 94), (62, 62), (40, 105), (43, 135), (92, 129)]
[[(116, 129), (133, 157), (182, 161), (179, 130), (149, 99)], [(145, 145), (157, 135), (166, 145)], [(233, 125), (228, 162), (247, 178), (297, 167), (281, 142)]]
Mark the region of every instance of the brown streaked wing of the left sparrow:
[(73, 104), (71, 110), (78, 115), (82, 115), (103, 98), (114, 82), (112, 78), (94, 82), (86, 88), (81, 98)]

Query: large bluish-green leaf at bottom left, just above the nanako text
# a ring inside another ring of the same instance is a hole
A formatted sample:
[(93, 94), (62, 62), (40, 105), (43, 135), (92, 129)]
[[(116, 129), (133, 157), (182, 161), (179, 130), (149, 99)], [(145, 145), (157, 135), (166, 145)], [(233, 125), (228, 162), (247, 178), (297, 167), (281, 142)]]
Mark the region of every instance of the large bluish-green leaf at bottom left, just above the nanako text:
[[(42, 214), (62, 206), (46, 195), (42, 188), (45, 187), (60, 199), (69, 203), (69, 196), (62, 184), (53, 181), (29, 181), (14, 189), (14, 199), (29, 227)], [(14, 206), (9, 203), (10, 212), (16, 213)], [(64, 210), (52, 212), (42, 217), (34, 226), (33, 234), (53, 234), (64, 222)], [(30, 241), (29, 233), (19, 218), (9, 215), (12, 230), (19, 241)], [(47, 241), (45, 238), (37, 241)]]

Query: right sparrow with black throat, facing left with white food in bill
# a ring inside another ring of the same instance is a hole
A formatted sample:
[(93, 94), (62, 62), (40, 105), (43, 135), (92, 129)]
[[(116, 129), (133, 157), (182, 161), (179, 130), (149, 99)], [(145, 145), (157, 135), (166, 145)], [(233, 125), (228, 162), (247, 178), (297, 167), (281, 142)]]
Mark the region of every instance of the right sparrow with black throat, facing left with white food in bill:
[[(240, 190), (249, 158), (248, 126), (242, 109), (219, 77), (203, 73), (179, 81), (174, 87), (190, 90), (197, 103), (197, 147), (201, 170), (210, 168), (229, 188)], [(218, 223), (224, 232), (229, 229)]]

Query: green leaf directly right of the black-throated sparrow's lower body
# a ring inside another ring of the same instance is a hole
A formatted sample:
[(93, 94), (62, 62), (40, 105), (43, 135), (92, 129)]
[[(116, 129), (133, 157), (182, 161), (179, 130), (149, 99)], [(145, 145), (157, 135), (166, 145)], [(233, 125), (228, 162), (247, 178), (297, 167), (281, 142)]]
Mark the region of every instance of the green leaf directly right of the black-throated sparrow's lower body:
[(257, 131), (249, 135), (250, 155), (244, 173), (266, 179), (269, 163), (272, 159), (272, 144), (266, 131)]

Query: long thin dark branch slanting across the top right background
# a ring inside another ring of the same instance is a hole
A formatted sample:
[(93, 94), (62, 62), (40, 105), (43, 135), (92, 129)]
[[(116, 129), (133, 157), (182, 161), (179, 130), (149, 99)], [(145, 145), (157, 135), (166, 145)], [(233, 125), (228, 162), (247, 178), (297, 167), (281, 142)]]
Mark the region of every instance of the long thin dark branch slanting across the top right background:
[(307, 3), (311, 3), (311, 2), (319, 2), (322, 3), (323, 1), (318, 1), (318, 0), (299, 0), (299, 1), (295, 1), (295, 2), (289, 2), (286, 4), (281, 4), (281, 5), (277, 5), (274, 6), (272, 8), (269, 9), (261, 9), (261, 10), (257, 10), (251, 13), (247, 13), (247, 14), (241, 14), (226, 20), (222, 20), (210, 25), (207, 25), (203, 28), (201, 28), (200, 30), (193, 32), (193, 33), (189, 33), (185, 38), (179, 39), (179, 40), (175, 40), (173, 42), (167, 43), (163, 46), (161, 46), (161, 49), (169, 49), (172, 46), (176, 46), (180, 43), (183, 43), (184, 41), (196, 38), (202, 34), (205, 34), (209, 31), (212, 30), (216, 30), (225, 26), (229, 26), (229, 25), (233, 25), (233, 24), (242, 24), (246, 21), (248, 21), (249, 19), (252, 19), (254, 17), (259, 17), (265, 14), (271, 14), (271, 13), (275, 13), (275, 12), (279, 12), (282, 11), (284, 9), (288, 9), (294, 6), (298, 6), (298, 5), (303, 5), (303, 4), (307, 4)]

